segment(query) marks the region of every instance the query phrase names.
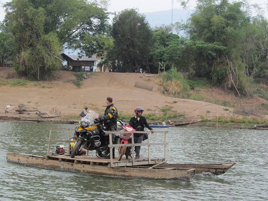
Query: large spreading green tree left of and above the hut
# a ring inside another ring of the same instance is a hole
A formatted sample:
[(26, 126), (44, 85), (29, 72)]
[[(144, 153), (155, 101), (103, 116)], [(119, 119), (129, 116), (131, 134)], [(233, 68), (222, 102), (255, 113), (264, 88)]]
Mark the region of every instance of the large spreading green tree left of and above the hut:
[(30, 79), (47, 79), (60, 68), (63, 45), (82, 49), (87, 35), (107, 27), (104, 9), (86, 0), (12, 0), (4, 7), (17, 44), (16, 70)]

